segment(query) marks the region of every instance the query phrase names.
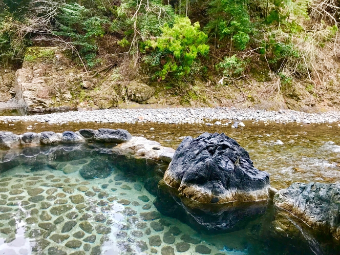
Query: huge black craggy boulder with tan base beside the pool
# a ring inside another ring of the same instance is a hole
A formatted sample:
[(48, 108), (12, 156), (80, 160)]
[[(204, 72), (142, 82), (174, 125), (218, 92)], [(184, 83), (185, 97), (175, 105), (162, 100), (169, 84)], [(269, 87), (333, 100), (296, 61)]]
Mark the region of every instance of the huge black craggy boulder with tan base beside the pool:
[(268, 199), (269, 175), (253, 166), (249, 154), (225, 134), (186, 137), (164, 181), (202, 203)]

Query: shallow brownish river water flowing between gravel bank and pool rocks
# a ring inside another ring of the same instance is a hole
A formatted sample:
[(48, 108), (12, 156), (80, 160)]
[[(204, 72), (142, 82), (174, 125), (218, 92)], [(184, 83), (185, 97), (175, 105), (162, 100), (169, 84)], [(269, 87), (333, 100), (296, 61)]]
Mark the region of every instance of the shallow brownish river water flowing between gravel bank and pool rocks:
[[(108, 124), (108, 123), (68, 123), (50, 125), (48, 123), (14, 122), (0, 124), (0, 130), (16, 134), (27, 132), (28, 125), (32, 132), (67, 130), (77, 131), (82, 128), (126, 129), (132, 135), (144, 136), (156, 140), (163, 146), (177, 148), (185, 136), (197, 137), (204, 132), (224, 132), (236, 139), (250, 155), (254, 165), (270, 174), (270, 183), (276, 188), (285, 188), (293, 182), (340, 182), (340, 128), (337, 123), (286, 125), (252, 123), (246, 121), (245, 128), (231, 129), (229, 126), (205, 126), (189, 124)], [(150, 131), (155, 128), (155, 131)], [(278, 140), (282, 141), (280, 144)]]

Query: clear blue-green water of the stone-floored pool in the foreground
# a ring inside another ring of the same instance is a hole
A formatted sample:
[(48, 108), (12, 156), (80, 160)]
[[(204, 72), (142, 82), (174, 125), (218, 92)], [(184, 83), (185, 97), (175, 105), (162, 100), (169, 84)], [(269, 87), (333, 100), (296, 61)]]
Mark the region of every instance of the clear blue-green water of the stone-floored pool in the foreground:
[[(340, 253), (331, 237), (266, 201), (257, 215), (239, 214), (233, 229), (210, 228), (236, 215), (225, 207), (179, 209), (184, 201), (157, 190), (166, 165), (112, 154), (111, 147), (1, 153), (0, 254)], [(91, 172), (98, 162), (110, 167)], [(90, 175), (102, 178), (83, 178)]]

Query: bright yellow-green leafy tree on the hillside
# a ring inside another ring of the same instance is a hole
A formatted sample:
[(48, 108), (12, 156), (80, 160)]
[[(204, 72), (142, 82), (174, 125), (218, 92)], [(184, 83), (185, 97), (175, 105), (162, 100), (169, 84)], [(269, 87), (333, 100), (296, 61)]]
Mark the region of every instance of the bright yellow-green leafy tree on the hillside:
[[(206, 56), (209, 46), (205, 44), (207, 35), (200, 31), (199, 23), (191, 24), (190, 19), (176, 17), (173, 26), (165, 24), (162, 35), (150, 40), (146, 49), (153, 48), (162, 56), (162, 70), (157, 75), (164, 79), (169, 73), (182, 77), (188, 74), (199, 55)], [(155, 64), (158, 61), (155, 62)]]

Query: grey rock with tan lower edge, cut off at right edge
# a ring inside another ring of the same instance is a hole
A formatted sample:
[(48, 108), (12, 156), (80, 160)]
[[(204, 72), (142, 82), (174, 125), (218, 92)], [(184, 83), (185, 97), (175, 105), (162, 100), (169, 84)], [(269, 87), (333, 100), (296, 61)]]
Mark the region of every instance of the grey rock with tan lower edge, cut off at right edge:
[(273, 202), (313, 229), (340, 239), (340, 184), (293, 183), (275, 194)]

